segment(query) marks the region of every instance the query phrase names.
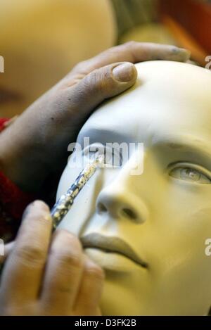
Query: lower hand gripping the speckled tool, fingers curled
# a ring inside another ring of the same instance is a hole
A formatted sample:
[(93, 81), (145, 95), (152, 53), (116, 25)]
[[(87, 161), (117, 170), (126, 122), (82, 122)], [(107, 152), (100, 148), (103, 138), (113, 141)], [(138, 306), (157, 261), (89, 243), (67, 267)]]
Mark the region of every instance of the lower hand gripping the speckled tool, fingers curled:
[(101, 315), (103, 270), (77, 237), (51, 229), (48, 206), (30, 204), (2, 272), (0, 315)]

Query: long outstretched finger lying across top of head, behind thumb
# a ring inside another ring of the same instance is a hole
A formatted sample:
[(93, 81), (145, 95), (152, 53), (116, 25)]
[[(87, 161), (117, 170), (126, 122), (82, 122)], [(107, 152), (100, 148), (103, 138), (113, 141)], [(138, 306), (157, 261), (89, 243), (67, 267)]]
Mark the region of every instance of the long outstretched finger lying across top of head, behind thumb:
[(127, 42), (120, 46), (112, 47), (98, 54), (90, 60), (83, 61), (75, 66), (71, 73), (88, 74), (92, 70), (116, 62), (138, 63), (142, 61), (181, 61), (185, 62), (190, 57), (190, 53), (177, 46), (163, 44)]

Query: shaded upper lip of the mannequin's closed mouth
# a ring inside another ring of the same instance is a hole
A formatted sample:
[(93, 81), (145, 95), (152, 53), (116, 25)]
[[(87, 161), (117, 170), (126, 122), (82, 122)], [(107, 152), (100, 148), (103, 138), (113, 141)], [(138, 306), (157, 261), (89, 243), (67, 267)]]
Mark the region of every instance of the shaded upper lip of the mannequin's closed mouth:
[(146, 262), (141, 260), (139, 255), (122, 239), (114, 236), (102, 236), (100, 234), (88, 234), (81, 238), (83, 248), (97, 248), (106, 253), (118, 253), (126, 258), (129, 258), (141, 267), (147, 268)]

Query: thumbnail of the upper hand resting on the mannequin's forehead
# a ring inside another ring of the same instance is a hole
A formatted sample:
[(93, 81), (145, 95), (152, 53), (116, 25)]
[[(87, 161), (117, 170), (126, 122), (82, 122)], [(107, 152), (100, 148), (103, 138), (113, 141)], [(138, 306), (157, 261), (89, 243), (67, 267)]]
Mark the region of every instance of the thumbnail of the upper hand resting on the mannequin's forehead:
[(130, 82), (134, 79), (136, 68), (132, 63), (122, 63), (113, 69), (113, 77), (119, 82)]

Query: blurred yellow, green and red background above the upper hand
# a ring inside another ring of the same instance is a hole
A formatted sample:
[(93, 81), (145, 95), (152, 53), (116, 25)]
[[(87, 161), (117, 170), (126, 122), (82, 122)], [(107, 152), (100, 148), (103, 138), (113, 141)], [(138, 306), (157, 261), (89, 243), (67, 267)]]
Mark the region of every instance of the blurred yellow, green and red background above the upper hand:
[(20, 114), (76, 63), (129, 40), (190, 49), (205, 66), (211, 1), (0, 0), (0, 117)]

